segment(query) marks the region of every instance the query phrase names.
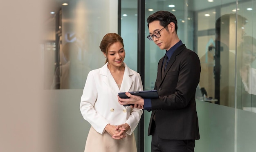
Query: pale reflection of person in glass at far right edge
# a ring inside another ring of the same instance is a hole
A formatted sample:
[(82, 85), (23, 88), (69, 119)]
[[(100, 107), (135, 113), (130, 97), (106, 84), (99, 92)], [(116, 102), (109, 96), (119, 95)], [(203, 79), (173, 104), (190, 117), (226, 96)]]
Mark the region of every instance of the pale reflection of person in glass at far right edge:
[(256, 107), (256, 39), (244, 36), (238, 47), (237, 108), (252, 111)]

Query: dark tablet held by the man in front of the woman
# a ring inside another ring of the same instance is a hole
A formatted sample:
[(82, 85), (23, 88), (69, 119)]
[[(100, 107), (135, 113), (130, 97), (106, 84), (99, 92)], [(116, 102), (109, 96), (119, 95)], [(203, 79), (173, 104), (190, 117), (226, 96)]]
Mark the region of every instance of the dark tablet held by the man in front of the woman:
[[(157, 90), (133, 91), (129, 93), (132, 95), (141, 96), (141, 98), (159, 98)], [(125, 92), (119, 92), (118, 96), (120, 98), (129, 98), (128, 96), (126, 96)], [(130, 106), (130, 105), (124, 105), (124, 106)]]

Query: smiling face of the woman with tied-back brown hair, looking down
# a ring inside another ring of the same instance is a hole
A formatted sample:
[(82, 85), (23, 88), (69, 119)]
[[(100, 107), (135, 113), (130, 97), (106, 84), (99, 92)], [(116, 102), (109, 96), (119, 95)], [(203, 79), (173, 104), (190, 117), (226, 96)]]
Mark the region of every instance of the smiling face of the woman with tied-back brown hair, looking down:
[(110, 64), (111, 67), (120, 67), (121, 65), (123, 65), (125, 51), (121, 42), (115, 42), (110, 45), (106, 57), (108, 58), (108, 64)]

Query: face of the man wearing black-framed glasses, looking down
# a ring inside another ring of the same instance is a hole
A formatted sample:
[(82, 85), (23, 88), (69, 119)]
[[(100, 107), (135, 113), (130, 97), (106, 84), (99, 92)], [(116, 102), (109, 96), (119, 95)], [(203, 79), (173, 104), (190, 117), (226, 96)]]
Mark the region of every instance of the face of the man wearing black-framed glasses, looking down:
[[(160, 31), (162, 28), (163, 26), (160, 25), (160, 22), (158, 20), (153, 21), (148, 26), (149, 34), (153, 35), (155, 32)], [(169, 28), (169, 25), (166, 28)], [(160, 34), (160, 37), (159, 38), (154, 37), (153, 41), (160, 49), (169, 50), (171, 48), (172, 34), (166, 29), (162, 29), (159, 32), (159, 34)]]

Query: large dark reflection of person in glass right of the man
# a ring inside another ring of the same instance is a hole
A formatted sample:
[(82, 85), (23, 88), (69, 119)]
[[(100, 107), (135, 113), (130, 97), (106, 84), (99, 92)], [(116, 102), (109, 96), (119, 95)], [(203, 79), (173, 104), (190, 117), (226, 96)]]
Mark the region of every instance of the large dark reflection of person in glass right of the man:
[[(236, 31), (237, 23), (237, 31)], [(239, 45), (245, 34), (247, 19), (236, 14), (225, 14), (216, 20), (216, 40), (214, 56), (205, 62), (202, 56), (200, 87), (204, 87), (209, 96), (218, 99), (216, 103), (234, 107), (235, 102), (235, 60), (236, 45)], [(212, 49), (209, 49), (211, 51)]]

